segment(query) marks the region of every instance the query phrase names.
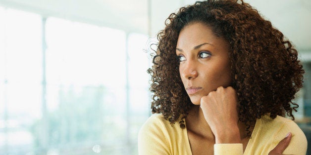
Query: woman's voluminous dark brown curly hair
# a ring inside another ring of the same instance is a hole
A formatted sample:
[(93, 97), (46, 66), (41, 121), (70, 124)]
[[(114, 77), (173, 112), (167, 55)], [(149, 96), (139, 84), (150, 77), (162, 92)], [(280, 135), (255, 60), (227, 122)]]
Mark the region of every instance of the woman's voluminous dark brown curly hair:
[[(185, 128), (187, 111), (193, 106), (179, 74), (176, 44), (180, 31), (195, 22), (206, 24), (217, 37), (230, 44), (232, 87), (238, 95), (239, 120), (254, 127), (265, 114), (290, 116), (293, 101), (302, 87), (303, 66), (298, 52), (283, 34), (243, 0), (197, 1), (172, 13), (157, 35), (151, 74), (152, 113), (161, 113), (170, 123)], [(182, 116), (180, 118), (180, 116)]]

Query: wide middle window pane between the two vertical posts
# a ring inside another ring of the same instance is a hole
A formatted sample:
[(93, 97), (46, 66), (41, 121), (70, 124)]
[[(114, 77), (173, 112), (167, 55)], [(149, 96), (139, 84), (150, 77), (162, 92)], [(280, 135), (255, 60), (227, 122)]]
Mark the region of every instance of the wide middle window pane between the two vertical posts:
[(99, 148), (122, 154), (126, 34), (58, 18), (48, 18), (46, 34), (50, 149), (66, 155), (91, 155)]

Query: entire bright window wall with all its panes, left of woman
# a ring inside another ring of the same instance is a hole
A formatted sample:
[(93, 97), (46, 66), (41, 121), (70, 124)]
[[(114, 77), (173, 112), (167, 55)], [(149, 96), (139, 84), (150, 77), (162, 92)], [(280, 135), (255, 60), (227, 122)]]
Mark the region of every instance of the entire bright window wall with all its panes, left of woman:
[(0, 152), (137, 154), (147, 36), (0, 8)]

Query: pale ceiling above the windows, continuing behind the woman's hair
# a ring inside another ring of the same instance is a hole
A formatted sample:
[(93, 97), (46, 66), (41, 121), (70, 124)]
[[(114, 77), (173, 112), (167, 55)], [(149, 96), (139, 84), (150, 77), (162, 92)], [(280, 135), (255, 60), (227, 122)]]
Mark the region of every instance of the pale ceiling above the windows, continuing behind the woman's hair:
[[(310, 0), (245, 0), (301, 52), (311, 52)], [(0, 5), (155, 37), (168, 15), (195, 0), (0, 0)]]

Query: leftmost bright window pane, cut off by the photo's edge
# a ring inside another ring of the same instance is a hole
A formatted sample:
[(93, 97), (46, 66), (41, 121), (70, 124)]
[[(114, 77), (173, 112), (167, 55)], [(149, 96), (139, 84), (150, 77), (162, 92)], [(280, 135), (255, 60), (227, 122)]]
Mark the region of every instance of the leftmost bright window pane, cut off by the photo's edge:
[(31, 128), (41, 117), (41, 16), (0, 9), (0, 152), (32, 150)]

